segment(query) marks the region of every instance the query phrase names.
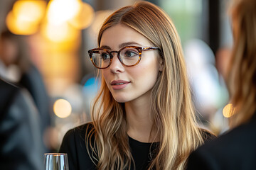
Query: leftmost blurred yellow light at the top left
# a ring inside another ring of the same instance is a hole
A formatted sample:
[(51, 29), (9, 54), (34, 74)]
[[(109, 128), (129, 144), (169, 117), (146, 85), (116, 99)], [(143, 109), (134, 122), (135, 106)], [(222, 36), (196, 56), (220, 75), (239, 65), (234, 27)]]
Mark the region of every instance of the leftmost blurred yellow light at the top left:
[(31, 35), (38, 30), (46, 9), (46, 1), (16, 1), (6, 17), (6, 26), (18, 35)]

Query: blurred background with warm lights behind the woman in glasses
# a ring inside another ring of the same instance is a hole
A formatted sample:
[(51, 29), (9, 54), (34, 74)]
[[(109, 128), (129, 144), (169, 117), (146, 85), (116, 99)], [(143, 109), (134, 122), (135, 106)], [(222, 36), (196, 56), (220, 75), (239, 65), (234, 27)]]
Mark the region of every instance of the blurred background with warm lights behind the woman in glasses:
[[(230, 1), (151, 2), (166, 11), (181, 37), (198, 122), (216, 135), (225, 132), (229, 96), (224, 79), (233, 43)], [(134, 0), (0, 1), (0, 76), (22, 82), (24, 74), (38, 72), (32, 81), (37, 81), (37, 93), (48, 97), (48, 106), (41, 107), (48, 110), (42, 119), (50, 118), (44, 142), (52, 152), (58, 151), (65, 132), (90, 121), (90, 102), (100, 82), (87, 50), (97, 47), (105, 18), (132, 4)], [(43, 96), (38, 95), (40, 105)]]

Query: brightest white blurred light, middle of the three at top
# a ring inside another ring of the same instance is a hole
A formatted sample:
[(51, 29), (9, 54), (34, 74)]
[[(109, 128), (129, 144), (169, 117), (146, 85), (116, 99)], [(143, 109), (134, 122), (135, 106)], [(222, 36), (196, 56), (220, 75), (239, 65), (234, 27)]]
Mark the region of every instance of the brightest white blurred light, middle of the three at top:
[(48, 4), (47, 18), (51, 24), (60, 24), (77, 15), (79, 0), (51, 0)]

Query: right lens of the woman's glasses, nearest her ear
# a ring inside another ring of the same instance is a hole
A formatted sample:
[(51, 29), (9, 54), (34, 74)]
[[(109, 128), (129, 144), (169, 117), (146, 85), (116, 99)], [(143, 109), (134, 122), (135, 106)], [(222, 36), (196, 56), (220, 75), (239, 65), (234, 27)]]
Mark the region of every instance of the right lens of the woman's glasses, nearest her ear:
[(132, 66), (139, 61), (139, 51), (134, 47), (126, 47), (120, 52), (122, 62), (127, 66)]

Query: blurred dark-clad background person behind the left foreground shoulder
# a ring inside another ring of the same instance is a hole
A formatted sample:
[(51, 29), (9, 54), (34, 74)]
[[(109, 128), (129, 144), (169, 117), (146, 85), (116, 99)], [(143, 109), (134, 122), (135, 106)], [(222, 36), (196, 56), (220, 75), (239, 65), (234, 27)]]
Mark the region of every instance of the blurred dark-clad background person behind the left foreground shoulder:
[[(0, 73), (0, 75), (29, 91), (38, 109), (41, 119), (41, 134), (44, 135), (50, 126), (50, 98), (41, 73), (30, 59), (26, 38), (4, 30), (0, 38), (0, 60), (6, 70), (9, 67), (16, 67), (14, 72), (11, 72), (16, 74), (12, 78), (6, 72)], [(48, 152), (47, 147), (46, 152)]]

